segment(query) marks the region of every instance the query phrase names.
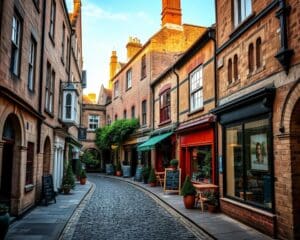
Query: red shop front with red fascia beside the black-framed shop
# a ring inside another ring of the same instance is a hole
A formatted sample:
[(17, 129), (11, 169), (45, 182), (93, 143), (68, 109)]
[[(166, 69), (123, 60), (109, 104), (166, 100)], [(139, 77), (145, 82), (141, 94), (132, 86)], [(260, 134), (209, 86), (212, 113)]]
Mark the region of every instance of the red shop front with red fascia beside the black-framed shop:
[(182, 180), (189, 175), (194, 182), (216, 183), (213, 126), (212, 118), (206, 118), (178, 128)]

